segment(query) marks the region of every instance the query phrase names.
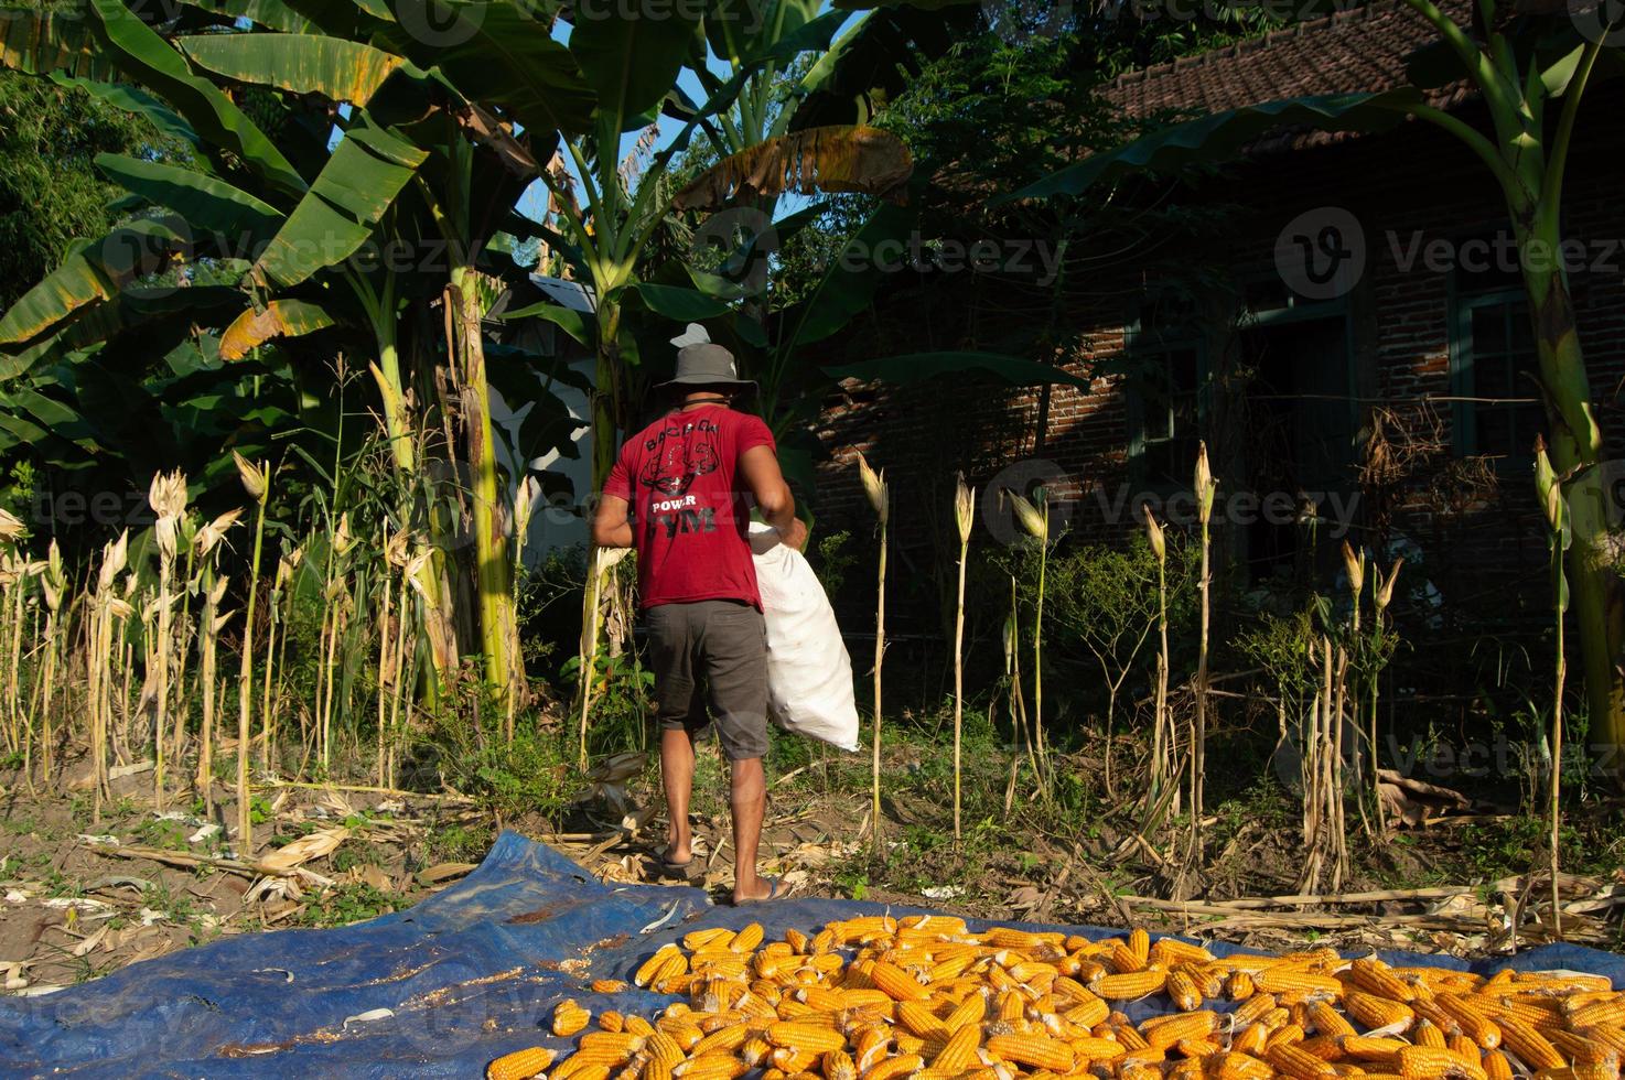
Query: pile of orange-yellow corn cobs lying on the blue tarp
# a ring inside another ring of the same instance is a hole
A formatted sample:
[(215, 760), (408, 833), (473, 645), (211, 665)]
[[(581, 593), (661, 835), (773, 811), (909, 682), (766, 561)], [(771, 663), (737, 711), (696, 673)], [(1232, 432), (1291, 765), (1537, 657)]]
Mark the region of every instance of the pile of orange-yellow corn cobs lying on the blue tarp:
[[(1618, 1080), (1625, 1052), (1625, 994), (1602, 976), (1484, 978), (1329, 948), (1216, 958), (1139, 929), (1089, 940), (864, 916), (764, 945), (752, 924), (694, 931), (634, 981), (689, 1004), (653, 1022), (600, 1013), (557, 1065), (535, 1048), (497, 1059), (488, 1077)], [(1150, 994), (1173, 1009), (1141, 1023), (1113, 1010)], [(1209, 1000), (1235, 1007), (1204, 1009)], [(561, 1002), (552, 1033), (577, 1035), (590, 1020)]]

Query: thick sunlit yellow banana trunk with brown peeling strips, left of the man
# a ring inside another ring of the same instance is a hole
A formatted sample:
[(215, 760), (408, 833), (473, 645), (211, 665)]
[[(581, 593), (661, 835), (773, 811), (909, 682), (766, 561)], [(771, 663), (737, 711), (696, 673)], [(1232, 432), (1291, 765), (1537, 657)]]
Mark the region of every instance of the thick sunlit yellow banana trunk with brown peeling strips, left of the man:
[(450, 299), (457, 305), (457, 365), (463, 382), (463, 437), (474, 518), (474, 560), (479, 583), (479, 645), (486, 658), (486, 682), (505, 700), (518, 667), (518, 625), (514, 620), (514, 573), (509, 560), (505, 515), (497, 484), (496, 447), (491, 435), (491, 387), (486, 383), (486, 351), (481, 338), (479, 294), (473, 271), (452, 271)]

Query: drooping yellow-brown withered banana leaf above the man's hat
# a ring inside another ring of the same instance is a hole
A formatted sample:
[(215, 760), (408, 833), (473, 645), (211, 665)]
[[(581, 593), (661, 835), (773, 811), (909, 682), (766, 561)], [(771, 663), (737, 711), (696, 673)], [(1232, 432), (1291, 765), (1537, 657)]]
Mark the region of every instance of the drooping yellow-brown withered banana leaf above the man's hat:
[(757, 195), (864, 192), (900, 203), (913, 156), (890, 132), (838, 125), (795, 132), (725, 158), (682, 188), (678, 210), (717, 210)]

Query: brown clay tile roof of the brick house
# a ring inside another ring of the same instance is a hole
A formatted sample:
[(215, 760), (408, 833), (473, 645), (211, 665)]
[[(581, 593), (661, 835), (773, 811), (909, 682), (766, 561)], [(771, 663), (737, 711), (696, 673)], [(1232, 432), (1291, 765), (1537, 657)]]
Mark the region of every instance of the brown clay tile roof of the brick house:
[[(1440, 8), (1466, 23), (1469, 5), (1471, 0), (1445, 0)], [(1363, 6), (1254, 41), (1120, 75), (1102, 94), (1133, 117), (1150, 117), (1168, 109), (1211, 114), (1306, 94), (1394, 89), (1407, 83), (1406, 57), (1436, 39), (1433, 28), (1399, 0), (1367, 0)], [(1446, 109), (1467, 96), (1466, 83), (1428, 93), (1433, 104)], [(1347, 136), (1300, 133), (1271, 140), (1269, 148), (1337, 138)]]

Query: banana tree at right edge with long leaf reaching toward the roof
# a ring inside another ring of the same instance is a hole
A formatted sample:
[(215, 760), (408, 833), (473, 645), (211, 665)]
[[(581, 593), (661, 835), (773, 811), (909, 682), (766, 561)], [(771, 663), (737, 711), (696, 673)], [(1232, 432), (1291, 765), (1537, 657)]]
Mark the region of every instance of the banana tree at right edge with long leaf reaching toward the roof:
[[(1414, 117), (1472, 151), (1502, 190), (1523, 255), (1550, 458), (1558, 473), (1575, 477), (1568, 567), (1591, 724), (1602, 741), (1620, 745), (1625, 744), (1625, 672), (1618, 666), (1625, 648), (1625, 591), (1607, 555), (1607, 492), (1597, 468), (1604, 451), (1601, 409), (1586, 374), (1570, 284), (1550, 258), (1563, 240), (1563, 180), (1580, 104), (1592, 81), (1625, 70), (1618, 31), (1604, 21), (1609, 5), (1601, 3), (1580, 10), (1588, 23), (1566, 13), (1503, 19), (1510, 13), (1502, 3), (1480, 0), (1471, 26), (1456, 23), (1430, 0), (1402, 3), (1438, 32), (1435, 45), (1412, 57), (1410, 86), (1274, 101), (1176, 123), (996, 201), (1077, 195), (1141, 172), (1172, 174), (1188, 164), (1230, 158), (1282, 127), (1380, 132)], [(1424, 89), (1461, 78), (1485, 106), (1485, 128), (1424, 97)]]

